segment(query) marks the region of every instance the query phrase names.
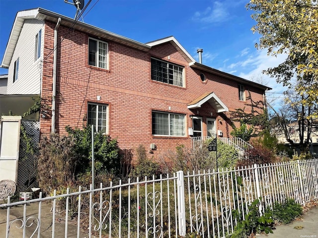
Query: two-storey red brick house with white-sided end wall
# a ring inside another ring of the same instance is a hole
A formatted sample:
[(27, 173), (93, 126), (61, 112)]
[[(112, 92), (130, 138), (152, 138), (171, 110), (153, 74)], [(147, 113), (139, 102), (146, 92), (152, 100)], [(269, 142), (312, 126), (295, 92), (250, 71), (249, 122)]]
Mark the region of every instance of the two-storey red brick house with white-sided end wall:
[(230, 112), (250, 111), (247, 97), (261, 111), (270, 89), (196, 62), (172, 36), (143, 44), (42, 8), (17, 13), (1, 67), (7, 94), (51, 107), (41, 134), (94, 124), (120, 148), (143, 144), (155, 157), (231, 137)]

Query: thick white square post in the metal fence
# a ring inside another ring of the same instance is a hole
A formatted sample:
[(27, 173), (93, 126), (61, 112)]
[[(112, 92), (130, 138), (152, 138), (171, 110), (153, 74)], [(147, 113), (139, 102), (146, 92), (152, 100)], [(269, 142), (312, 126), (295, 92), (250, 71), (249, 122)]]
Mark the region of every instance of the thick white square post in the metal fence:
[(177, 194), (178, 194), (178, 228), (179, 236), (185, 237), (185, 200), (183, 171), (177, 172)]

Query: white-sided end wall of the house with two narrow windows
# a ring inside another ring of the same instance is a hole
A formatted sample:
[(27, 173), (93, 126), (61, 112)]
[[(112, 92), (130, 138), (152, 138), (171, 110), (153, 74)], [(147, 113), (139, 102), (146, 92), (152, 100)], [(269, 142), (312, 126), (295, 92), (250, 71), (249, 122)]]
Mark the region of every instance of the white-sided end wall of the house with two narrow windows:
[(44, 21), (25, 18), (21, 31), (16, 32), (18, 40), (8, 67), (7, 94), (40, 94), (41, 90)]

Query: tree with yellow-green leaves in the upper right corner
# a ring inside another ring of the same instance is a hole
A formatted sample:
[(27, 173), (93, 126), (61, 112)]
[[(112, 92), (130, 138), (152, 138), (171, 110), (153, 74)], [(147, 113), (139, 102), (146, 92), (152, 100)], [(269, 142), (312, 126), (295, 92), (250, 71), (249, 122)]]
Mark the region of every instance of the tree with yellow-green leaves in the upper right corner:
[[(315, 3), (313, 0), (250, 0), (246, 5), (256, 21), (252, 30), (261, 35), (255, 47), (267, 49), (271, 56), (287, 57), (264, 72), (298, 93), (301, 96), (298, 103), (305, 107), (318, 102), (318, 5)], [(312, 107), (308, 117), (317, 118), (318, 111)]]

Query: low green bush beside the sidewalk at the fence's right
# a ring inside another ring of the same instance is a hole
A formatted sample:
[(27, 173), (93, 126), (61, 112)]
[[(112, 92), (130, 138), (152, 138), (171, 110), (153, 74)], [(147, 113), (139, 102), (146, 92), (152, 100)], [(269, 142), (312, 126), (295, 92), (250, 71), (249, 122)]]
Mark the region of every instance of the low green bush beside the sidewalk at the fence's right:
[(294, 199), (287, 198), (282, 203), (275, 202), (272, 213), (275, 223), (289, 224), (303, 213), (303, 208)]

